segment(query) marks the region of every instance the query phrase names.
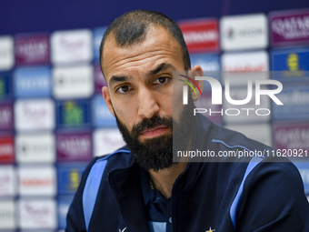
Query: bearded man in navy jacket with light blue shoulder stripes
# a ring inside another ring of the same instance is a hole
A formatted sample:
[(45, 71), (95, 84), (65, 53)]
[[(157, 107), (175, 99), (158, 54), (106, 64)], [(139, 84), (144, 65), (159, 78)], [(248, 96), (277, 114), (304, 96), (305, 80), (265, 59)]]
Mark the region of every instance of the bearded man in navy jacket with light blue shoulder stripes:
[[(309, 231), (308, 202), (291, 163), (257, 156), (173, 163), (173, 136), (186, 136), (184, 150), (271, 149), (204, 116), (186, 124), (194, 91), (188, 106), (173, 112), (173, 72), (190, 69), (174, 21), (129, 12), (108, 27), (100, 49), (103, 96), (127, 146), (87, 166), (66, 231)], [(191, 71), (203, 76), (200, 66)]]

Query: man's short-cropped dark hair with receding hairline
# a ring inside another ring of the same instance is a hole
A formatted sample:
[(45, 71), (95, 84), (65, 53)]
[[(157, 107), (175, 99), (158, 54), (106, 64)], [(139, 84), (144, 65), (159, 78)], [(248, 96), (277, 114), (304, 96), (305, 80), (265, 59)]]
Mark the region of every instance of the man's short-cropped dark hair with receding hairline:
[(161, 25), (173, 35), (176, 41), (181, 46), (184, 60), (184, 70), (189, 70), (191, 67), (190, 56), (184, 42), (184, 35), (179, 26), (166, 15), (154, 11), (135, 10), (117, 17), (105, 31), (100, 45), (100, 65), (102, 68), (102, 55), (105, 40), (111, 32), (115, 35), (116, 45), (130, 46), (137, 43), (142, 43), (145, 40), (145, 35), (148, 32), (150, 25)]

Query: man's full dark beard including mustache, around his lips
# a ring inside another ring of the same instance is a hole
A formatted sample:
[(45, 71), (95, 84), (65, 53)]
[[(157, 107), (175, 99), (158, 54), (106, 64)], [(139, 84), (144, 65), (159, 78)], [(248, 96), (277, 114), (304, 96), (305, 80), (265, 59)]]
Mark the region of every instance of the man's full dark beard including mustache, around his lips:
[[(177, 160), (173, 162), (173, 146), (177, 147), (177, 150), (185, 150), (189, 146), (194, 131), (194, 103), (193, 99), (190, 98), (189, 104), (184, 106), (181, 113), (179, 124), (171, 116), (152, 116), (151, 118), (144, 118), (140, 123), (133, 126), (130, 132), (115, 114), (117, 125), (125, 143), (130, 147), (132, 156), (139, 166), (145, 170), (157, 172), (177, 164)], [(140, 142), (138, 136), (142, 132), (157, 126), (166, 126), (171, 131), (173, 130), (173, 134), (156, 136), (145, 139), (145, 142)]]

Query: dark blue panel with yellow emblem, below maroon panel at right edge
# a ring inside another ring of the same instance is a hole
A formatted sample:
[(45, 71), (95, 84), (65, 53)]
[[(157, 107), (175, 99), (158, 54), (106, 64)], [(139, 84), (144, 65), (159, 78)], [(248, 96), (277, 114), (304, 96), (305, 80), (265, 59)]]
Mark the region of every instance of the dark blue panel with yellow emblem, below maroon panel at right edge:
[(277, 49), (271, 52), (273, 78), (283, 82), (307, 81), (309, 76), (309, 47)]

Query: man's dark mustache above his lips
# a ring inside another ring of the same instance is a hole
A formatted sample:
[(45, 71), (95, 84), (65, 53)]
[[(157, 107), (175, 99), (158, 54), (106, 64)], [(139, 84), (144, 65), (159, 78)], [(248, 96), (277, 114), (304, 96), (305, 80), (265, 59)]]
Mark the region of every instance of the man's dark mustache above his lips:
[(132, 127), (132, 136), (139, 136), (145, 130), (153, 129), (157, 126), (166, 126), (173, 129), (173, 118), (171, 116), (152, 116), (144, 118), (141, 122)]

